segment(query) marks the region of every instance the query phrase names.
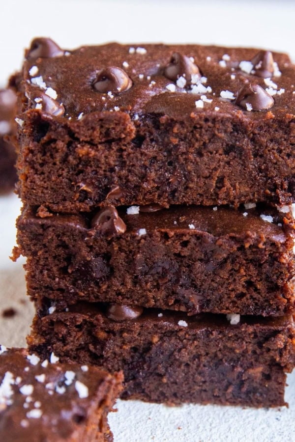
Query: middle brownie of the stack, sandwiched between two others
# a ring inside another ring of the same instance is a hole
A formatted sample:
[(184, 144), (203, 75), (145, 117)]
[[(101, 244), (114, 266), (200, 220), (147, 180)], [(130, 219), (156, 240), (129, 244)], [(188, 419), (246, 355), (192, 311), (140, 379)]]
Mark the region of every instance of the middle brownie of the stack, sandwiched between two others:
[(29, 296), (48, 298), (57, 310), (83, 300), (190, 314), (295, 311), (289, 213), (197, 206), (146, 212), (154, 209), (56, 215), (26, 208), (17, 226)]

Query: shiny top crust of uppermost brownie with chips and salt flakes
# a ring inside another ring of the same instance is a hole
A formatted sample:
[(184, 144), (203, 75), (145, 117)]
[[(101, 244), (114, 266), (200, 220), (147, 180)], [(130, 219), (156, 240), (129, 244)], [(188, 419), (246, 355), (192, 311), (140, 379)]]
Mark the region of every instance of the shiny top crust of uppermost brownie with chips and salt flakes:
[(291, 119), (295, 108), (290, 58), (257, 49), (110, 43), (64, 51), (36, 38), (20, 79), (29, 108), (66, 118), (124, 111), (134, 119), (197, 112)]

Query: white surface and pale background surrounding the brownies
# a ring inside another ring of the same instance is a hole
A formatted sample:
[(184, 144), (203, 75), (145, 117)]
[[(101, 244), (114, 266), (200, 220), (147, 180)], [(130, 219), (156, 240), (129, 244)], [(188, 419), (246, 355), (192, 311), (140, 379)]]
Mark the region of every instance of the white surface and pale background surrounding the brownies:
[[(289, 52), (295, 60), (295, 1), (2, 0), (0, 17), (0, 84), (18, 69), (34, 36), (50, 36), (65, 48), (111, 40), (265, 47)], [(7, 258), (15, 244), (19, 207), (13, 195), (0, 198), (0, 305), (17, 310), (13, 319), (0, 318), (1, 340), (7, 345), (25, 345), (32, 315), (22, 262)], [(292, 442), (295, 373), (289, 384), (289, 409), (168, 408), (118, 401), (119, 412), (109, 420), (115, 442)]]

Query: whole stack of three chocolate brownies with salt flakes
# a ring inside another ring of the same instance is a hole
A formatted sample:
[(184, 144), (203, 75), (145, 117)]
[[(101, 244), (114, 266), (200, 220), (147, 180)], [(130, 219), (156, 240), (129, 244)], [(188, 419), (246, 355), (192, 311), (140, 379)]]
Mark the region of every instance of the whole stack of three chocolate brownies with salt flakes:
[(284, 405), (295, 364), (295, 67), (198, 45), (64, 51), (18, 91), (29, 350), (121, 397)]

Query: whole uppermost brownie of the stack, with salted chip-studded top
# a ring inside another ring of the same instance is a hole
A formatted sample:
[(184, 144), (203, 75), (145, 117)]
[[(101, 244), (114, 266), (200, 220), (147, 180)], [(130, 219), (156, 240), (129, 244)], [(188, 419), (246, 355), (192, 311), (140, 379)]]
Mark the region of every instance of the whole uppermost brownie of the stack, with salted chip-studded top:
[(64, 51), (33, 40), (19, 93), (19, 193), (31, 205), (295, 202), (295, 66), (200, 45)]

